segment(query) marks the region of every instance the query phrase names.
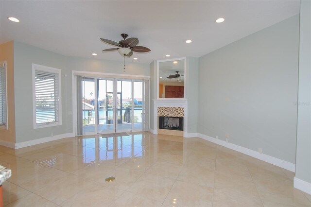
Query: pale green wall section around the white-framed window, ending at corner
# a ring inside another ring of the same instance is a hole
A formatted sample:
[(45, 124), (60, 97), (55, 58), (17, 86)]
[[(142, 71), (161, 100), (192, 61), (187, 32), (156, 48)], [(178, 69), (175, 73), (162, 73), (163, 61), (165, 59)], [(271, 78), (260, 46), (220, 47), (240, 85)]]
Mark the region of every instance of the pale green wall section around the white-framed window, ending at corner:
[(49, 66), (62, 70), (62, 86), (65, 86), (63, 78), (66, 71), (66, 58), (63, 55), (38, 49), (23, 43), (14, 41), (14, 87), (15, 87), (15, 126), (16, 143), (37, 138), (69, 133), (67, 131), (66, 88), (62, 87), (62, 125), (47, 128), (34, 129), (33, 125), (33, 85), (32, 64)]

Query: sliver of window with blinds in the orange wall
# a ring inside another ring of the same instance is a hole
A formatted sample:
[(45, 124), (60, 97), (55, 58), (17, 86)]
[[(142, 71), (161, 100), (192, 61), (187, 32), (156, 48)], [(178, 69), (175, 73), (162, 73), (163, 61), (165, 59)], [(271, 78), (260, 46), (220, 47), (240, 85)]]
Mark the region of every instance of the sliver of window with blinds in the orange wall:
[(0, 126), (7, 129), (6, 62), (0, 64)]

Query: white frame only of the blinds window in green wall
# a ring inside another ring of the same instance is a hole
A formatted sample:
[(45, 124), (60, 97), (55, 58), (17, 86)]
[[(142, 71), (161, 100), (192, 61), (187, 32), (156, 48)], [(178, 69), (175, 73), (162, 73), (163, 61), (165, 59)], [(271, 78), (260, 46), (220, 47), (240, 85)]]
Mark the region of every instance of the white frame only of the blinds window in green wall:
[[(61, 69), (56, 69), (48, 66), (33, 64), (33, 124), (34, 129), (59, 126), (62, 125), (62, 93), (61, 93)], [(35, 71), (43, 71), (58, 74), (58, 121), (52, 123), (36, 123), (36, 99), (35, 99)]]

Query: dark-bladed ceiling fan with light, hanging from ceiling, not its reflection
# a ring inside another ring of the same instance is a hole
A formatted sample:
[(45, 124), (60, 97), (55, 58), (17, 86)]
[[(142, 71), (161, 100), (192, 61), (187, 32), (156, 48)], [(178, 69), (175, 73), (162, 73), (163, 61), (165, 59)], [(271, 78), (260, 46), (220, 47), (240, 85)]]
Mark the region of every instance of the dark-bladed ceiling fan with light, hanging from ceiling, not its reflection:
[(109, 39), (101, 38), (101, 40), (104, 43), (118, 47), (118, 48), (105, 49), (103, 50), (103, 52), (118, 51), (122, 56), (130, 57), (132, 56), (133, 52), (149, 52), (150, 51), (149, 48), (138, 46), (138, 38), (136, 37), (127, 38), (128, 37), (127, 34), (121, 34), (121, 36), (123, 37), (123, 40), (120, 40), (119, 43), (109, 40)]

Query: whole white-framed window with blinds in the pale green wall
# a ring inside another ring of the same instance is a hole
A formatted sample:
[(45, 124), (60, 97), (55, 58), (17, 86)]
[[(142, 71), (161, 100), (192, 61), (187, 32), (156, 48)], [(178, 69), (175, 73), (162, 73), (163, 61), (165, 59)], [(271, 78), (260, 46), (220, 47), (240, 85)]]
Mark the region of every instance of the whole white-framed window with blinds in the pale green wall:
[(34, 65), (34, 128), (61, 124), (60, 69)]

